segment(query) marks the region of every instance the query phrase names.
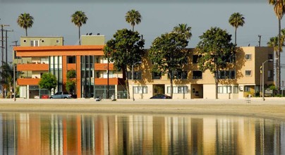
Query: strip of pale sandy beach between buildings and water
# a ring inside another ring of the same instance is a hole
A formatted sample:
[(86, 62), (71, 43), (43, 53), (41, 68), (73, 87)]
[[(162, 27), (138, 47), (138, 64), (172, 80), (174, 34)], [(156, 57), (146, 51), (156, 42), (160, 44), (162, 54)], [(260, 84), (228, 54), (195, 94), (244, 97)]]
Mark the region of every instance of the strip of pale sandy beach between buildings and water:
[(229, 115), (285, 121), (285, 98), (245, 99), (0, 99), (2, 113)]

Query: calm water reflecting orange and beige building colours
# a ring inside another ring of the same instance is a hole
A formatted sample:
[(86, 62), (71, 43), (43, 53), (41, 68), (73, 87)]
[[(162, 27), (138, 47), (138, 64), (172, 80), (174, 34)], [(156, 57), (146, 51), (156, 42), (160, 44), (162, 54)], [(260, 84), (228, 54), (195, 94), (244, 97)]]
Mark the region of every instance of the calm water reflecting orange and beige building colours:
[(231, 116), (1, 113), (0, 154), (285, 154), (285, 123)]

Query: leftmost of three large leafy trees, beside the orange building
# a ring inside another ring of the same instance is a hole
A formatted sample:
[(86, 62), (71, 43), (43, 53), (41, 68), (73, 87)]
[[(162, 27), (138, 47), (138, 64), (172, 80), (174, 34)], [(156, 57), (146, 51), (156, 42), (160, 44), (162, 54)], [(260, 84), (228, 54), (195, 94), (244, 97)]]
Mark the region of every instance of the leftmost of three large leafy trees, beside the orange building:
[(128, 69), (138, 61), (142, 61), (145, 51), (142, 49), (145, 40), (138, 32), (122, 29), (117, 30), (106, 46), (104, 46), (104, 56), (109, 57), (109, 61), (114, 63), (116, 70), (122, 70), (126, 77), (126, 89), (130, 97), (128, 87)]

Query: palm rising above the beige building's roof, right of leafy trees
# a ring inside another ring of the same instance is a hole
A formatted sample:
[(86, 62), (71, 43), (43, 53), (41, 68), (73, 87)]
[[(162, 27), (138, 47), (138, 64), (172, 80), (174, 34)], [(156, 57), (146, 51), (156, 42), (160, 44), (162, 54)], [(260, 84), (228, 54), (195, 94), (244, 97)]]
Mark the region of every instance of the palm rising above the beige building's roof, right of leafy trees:
[(229, 17), (229, 24), (235, 28), (234, 30), (234, 44), (236, 44), (236, 30), (239, 26), (243, 26), (245, 18), (241, 13), (233, 13)]

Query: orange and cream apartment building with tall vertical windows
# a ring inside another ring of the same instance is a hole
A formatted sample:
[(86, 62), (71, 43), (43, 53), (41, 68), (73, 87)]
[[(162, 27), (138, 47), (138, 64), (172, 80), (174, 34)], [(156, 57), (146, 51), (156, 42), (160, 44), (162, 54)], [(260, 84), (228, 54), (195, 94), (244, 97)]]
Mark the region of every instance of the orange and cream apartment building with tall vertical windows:
[[(41, 40), (39, 38), (30, 39)], [(21, 42), (22, 40), (24, 42), (25, 38), (21, 38)], [(63, 39), (59, 42), (63, 42)], [(38, 85), (42, 74), (48, 72), (55, 75), (58, 80), (58, 86), (51, 94), (66, 91), (68, 70), (76, 71), (76, 89), (73, 93), (78, 98), (94, 96), (106, 98), (108, 86), (110, 96), (119, 94), (120, 98), (126, 94), (123, 75), (115, 72), (113, 64), (108, 64), (104, 58), (103, 35), (82, 36), (82, 45), (37, 45), (32, 46), (31, 41), (30, 46), (14, 47), (18, 58), (17, 70), (23, 73), (17, 80), (20, 97), (32, 99), (42, 97), (42, 94), (49, 94), (47, 89), (40, 89)], [(108, 71), (109, 80), (107, 80)]]

